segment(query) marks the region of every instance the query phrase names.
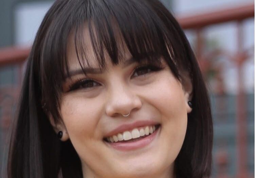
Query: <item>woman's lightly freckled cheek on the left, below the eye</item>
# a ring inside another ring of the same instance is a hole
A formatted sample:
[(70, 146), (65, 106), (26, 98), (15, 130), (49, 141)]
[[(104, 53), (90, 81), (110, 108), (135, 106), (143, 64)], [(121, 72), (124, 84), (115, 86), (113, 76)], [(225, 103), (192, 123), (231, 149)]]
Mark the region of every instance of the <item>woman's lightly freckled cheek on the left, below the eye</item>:
[[(79, 95), (62, 98), (61, 115), (72, 142), (95, 136), (100, 118), (99, 103)], [(97, 107), (96, 107), (97, 106)]]

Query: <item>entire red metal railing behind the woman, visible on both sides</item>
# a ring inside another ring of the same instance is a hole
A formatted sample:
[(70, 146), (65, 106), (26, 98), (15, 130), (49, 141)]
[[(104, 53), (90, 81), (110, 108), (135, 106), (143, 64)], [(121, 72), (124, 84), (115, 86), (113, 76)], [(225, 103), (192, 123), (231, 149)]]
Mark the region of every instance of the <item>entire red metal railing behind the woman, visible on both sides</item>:
[[(231, 60), (233, 63), (236, 64), (238, 69), (238, 96), (237, 96), (237, 108), (236, 108), (236, 120), (237, 120), (237, 148), (238, 148), (238, 159), (237, 159), (237, 168), (238, 178), (248, 178), (251, 175), (249, 175), (248, 170), (246, 169), (246, 162), (247, 162), (247, 155), (246, 155), (246, 116), (245, 116), (245, 94), (241, 86), (243, 86), (242, 83), (242, 66), (246, 59), (250, 57), (249, 50), (243, 49), (243, 30), (242, 30), (242, 23), (244, 20), (254, 18), (254, 3), (248, 4), (244, 6), (239, 6), (235, 8), (230, 9), (223, 9), (223, 10), (217, 10), (205, 14), (200, 15), (193, 15), (189, 17), (180, 17), (178, 18), (179, 23), (181, 24), (182, 28), (187, 30), (194, 30), (196, 34), (196, 55), (198, 58), (198, 61), (200, 63), (200, 67), (203, 73), (205, 73), (209, 68), (211, 67), (211, 60), (206, 60), (209, 58), (214, 58), (216, 55), (224, 54), (225, 56), (228, 56), (229, 60)], [(203, 46), (204, 46), (204, 29), (206, 27), (209, 27), (211, 25), (216, 25), (220, 23), (227, 23), (227, 22), (234, 22), (237, 24), (237, 51), (236, 53), (230, 54), (226, 51), (223, 51), (221, 49), (212, 51), (210, 53), (204, 53)], [(0, 107), (2, 107), (3, 110), (3, 116), (1, 119), (1, 128), (6, 130), (8, 128), (8, 125), (11, 120), (11, 112), (10, 108), (14, 101), (6, 102), (6, 98), (4, 97), (7, 95), (12, 95), (14, 100), (17, 101), (17, 93), (21, 86), (21, 76), (22, 76), (22, 65), (26, 59), (26, 57), (29, 54), (30, 49), (29, 48), (17, 48), (17, 47), (10, 47), (10, 48), (4, 48), (0, 49), (0, 67), (10, 66), (10, 65), (18, 65), (19, 66), (19, 74), (18, 74), (18, 80), (20, 81), (18, 83), (18, 86), (7, 86), (5, 88), (0, 88)], [(224, 93), (223, 89), (223, 83), (222, 83), (222, 76), (221, 76), (221, 68), (218, 69), (217, 77), (219, 78), (219, 85), (217, 86), (217, 93)], [(12, 90), (10, 90), (10, 87)], [(5, 101), (4, 101), (5, 100)], [(8, 106), (6, 103), (9, 103)], [(221, 152), (217, 155), (217, 160), (220, 164), (223, 162), (226, 162), (226, 153)], [(217, 175), (218, 178), (221, 177), (227, 177), (227, 174), (225, 172), (220, 172), (219, 175)]]

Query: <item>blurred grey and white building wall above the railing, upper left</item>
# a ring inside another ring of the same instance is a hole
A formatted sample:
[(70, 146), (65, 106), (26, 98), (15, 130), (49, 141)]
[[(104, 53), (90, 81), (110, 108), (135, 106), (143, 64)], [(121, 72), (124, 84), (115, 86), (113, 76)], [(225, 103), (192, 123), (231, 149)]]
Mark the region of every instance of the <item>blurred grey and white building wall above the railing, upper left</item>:
[(30, 46), (53, 1), (1, 0), (0, 3), (0, 47), (4, 47)]

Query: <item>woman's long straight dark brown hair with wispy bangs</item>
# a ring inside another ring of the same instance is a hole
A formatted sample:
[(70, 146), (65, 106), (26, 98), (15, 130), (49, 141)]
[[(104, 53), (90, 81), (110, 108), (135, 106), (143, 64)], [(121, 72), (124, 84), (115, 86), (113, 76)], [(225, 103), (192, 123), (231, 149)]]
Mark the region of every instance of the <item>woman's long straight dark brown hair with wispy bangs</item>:
[(65, 71), (69, 76), (68, 39), (75, 42), (81, 68), (90, 65), (84, 45), (85, 25), (101, 68), (105, 68), (104, 50), (114, 65), (122, 59), (123, 46), (115, 33), (118, 27), (121, 44), (136, 60), (158, 61), (162, 56), (177, 79), (182, 80), (181, 71), (189, 74), (193, 111), (188, 114), (175, 174), (209, 177), (213, 142), (209, 98), (195, 55), (170, 12), (158, 0), (56, 0), (39, 27), (27, 59), (8, 154), (8, 178), (83, 177), (74, 147), (70, 141), (59, 141), (42, 103), (58, 122)]

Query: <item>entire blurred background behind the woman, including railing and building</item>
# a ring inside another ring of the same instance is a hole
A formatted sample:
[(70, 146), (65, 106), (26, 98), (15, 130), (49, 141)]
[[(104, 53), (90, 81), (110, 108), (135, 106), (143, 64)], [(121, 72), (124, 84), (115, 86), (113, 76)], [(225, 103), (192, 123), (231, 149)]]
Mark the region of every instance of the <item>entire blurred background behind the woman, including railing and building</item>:
[[(254, 1), (161, 0), (195, 51), (214, 122), (212, 178), (254, 177)], [(0, 169), (25, 59), (53, 1), (0, 1)], [(1, 177), (1, 176), (0, 176)]]

